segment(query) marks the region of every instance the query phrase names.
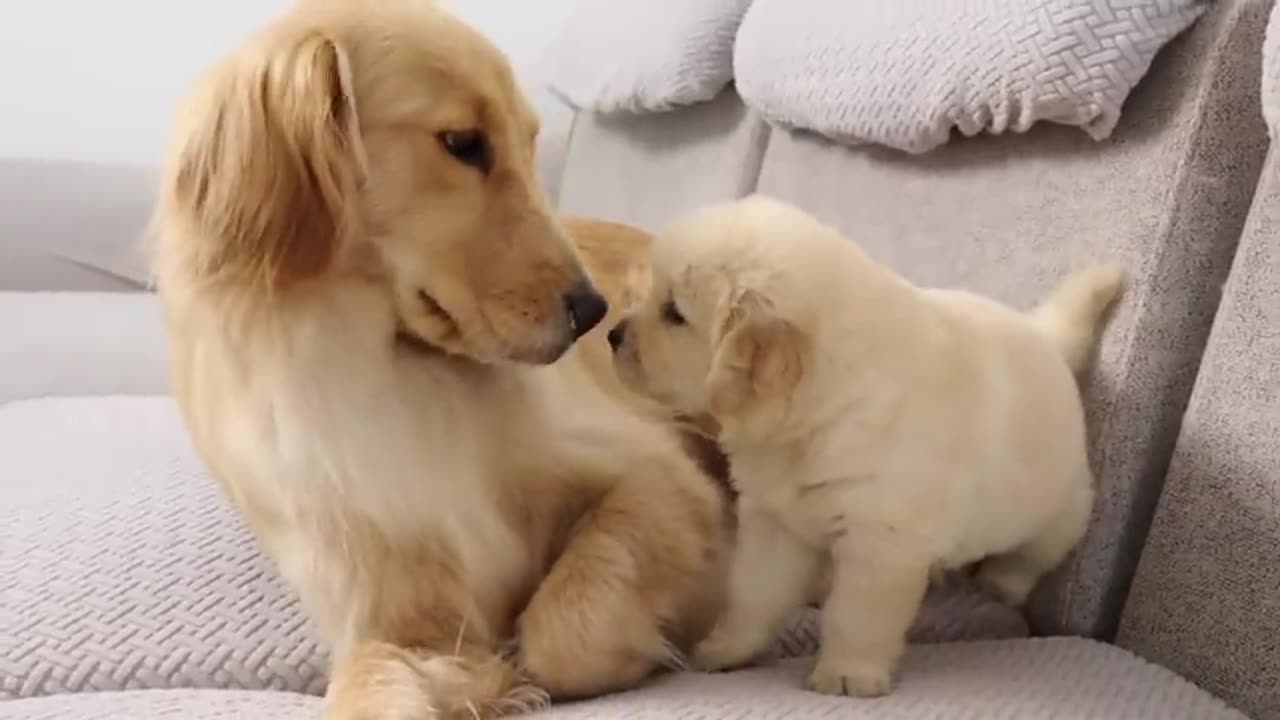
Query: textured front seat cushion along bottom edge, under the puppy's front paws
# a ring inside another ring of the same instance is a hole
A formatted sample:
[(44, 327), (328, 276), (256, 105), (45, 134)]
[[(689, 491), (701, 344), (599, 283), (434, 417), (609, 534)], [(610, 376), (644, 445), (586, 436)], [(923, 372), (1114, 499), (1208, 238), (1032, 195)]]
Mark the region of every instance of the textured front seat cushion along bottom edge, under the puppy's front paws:
[[(1169, 670), (1115, 647), (1057, 638), (913, 648), (897, 691), (879, 700), (801, 689), (810, 662), (721, 675), (681, 674), (530, 720), (1248, 720)], [(152, 692), (0, 702), (0, 720), (302, 720), (319, 698)]]

